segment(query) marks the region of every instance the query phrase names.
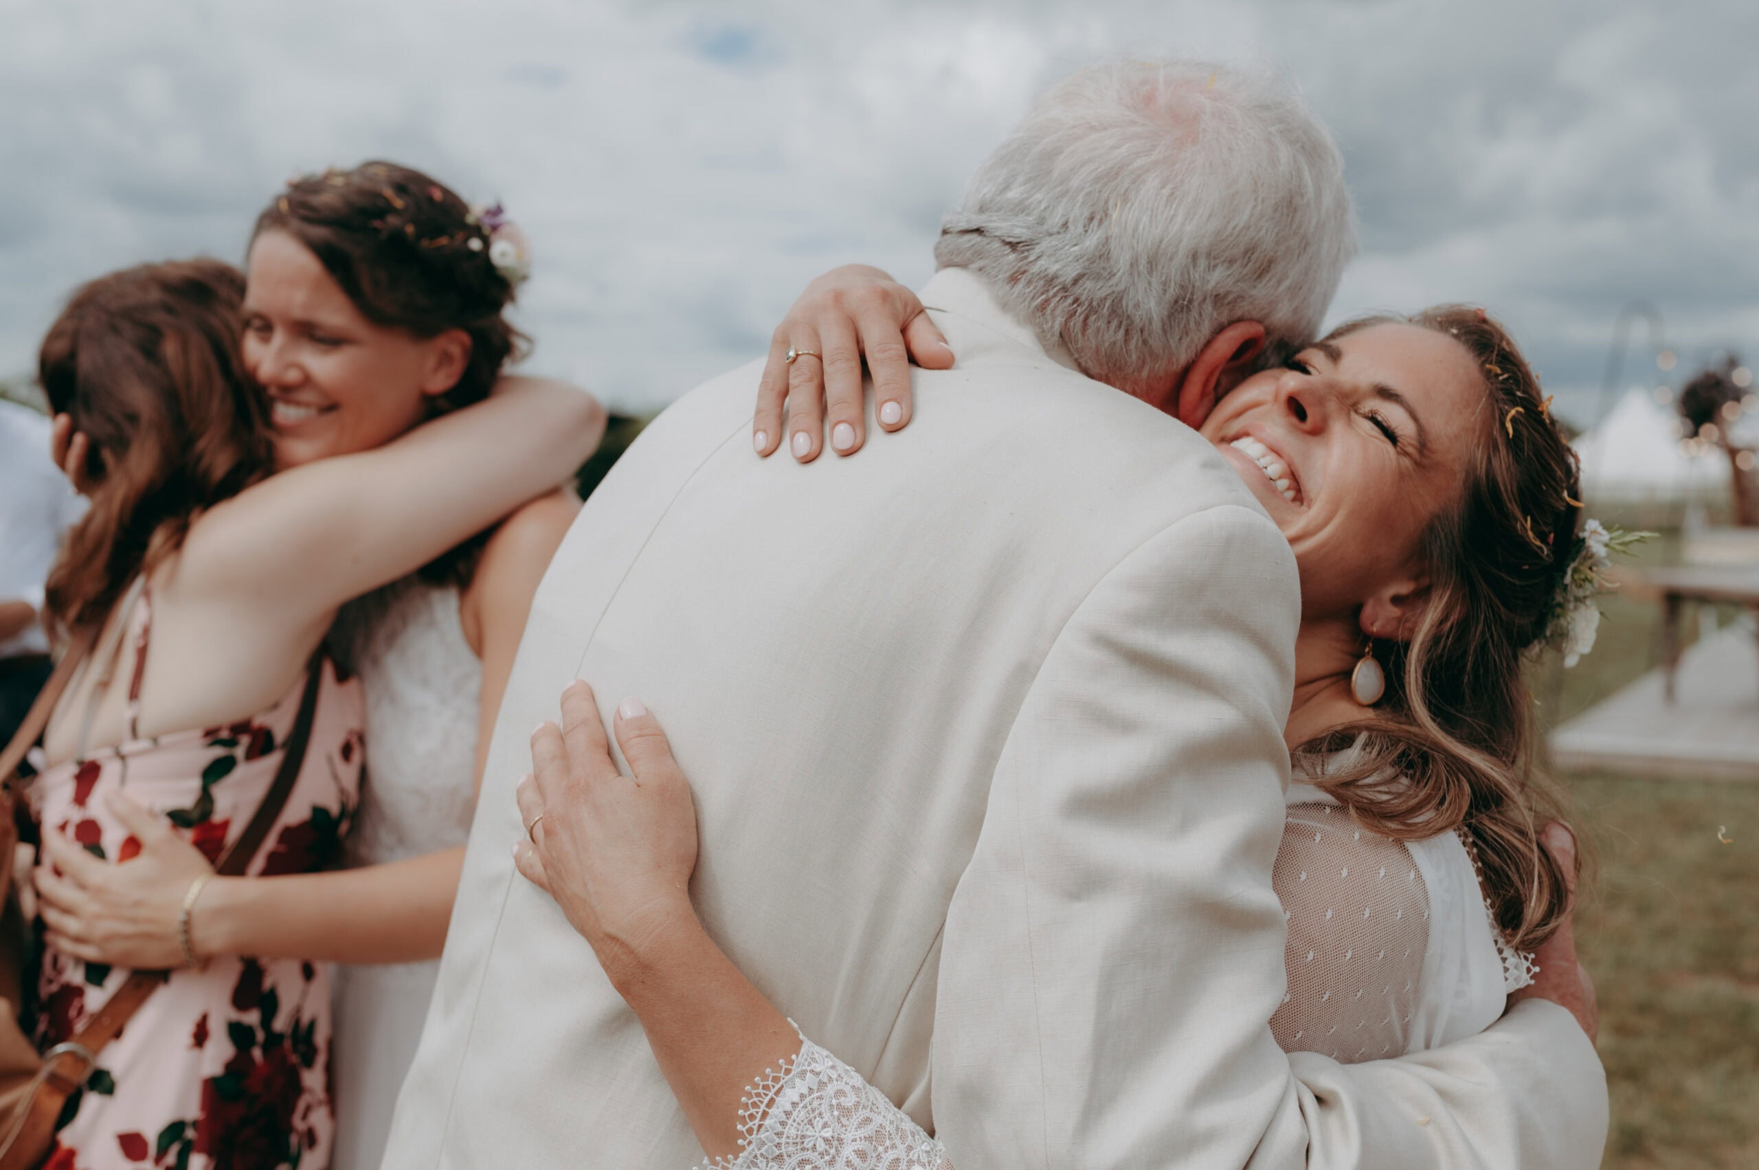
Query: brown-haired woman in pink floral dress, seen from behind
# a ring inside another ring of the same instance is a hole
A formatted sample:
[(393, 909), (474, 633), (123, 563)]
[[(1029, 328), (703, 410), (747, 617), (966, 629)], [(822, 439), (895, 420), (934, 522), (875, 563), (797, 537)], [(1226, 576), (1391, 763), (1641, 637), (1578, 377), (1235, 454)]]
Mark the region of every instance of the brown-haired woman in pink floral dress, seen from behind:
[[(42, 387), (81, 435), (91, 498), (49, 579), (65, 632), (97, 630), (33, 760), (44, 864), (39, 1036), (76, 1035), (127, 980), (70, 936), (56, 899), (164, 880), (185, 839), (193, 904), (274, 778), (311, 683), (294, 788), (252, 874), (322, 867), (357, 806), (362, 700), (318, 646), (338, 605), (427, 563), (565, 479), (596, 440), (572, 387), (503, 378), (484, 403), (394, 443), (267, 477), (271, 440), (237, 350), (243, 278), (216, 262), (116, 273), (44, 341)], [(392, 333), (390, 327), (385, 327)], [(456, 380), (456, 333), (387, 340), (387, 377)], [(185, 932), (142, 950), (174, 968), (97, 1054), (62, 1114), (56, 1170), (324, 1166), (334, 1135), (329, 982), (299, 959), (190, 962)]]

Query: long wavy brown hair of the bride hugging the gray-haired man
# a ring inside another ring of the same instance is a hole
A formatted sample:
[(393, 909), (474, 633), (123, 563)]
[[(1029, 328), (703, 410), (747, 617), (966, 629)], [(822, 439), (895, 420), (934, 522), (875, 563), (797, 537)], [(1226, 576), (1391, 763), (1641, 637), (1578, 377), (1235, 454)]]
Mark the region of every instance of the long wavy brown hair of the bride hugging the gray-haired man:
[[(1448, 304), (1332, 331), (1411, 324), (1455, 338), (1492, 410), (1462, 494), (1421, 535), (1430, 605), (1409, 642), (1376, 640), (1386, 695), (1376, 714), (1296, 750), (1314, 783), (1365, 827), (1421, 839), (1465, 829), (1504, 938), (1534, 948), (1567, 913), (1564, 873), (1539, 841), (1562, 797), (1543, 774), (1525, 663), (1546, 635), (1581, 526), (1576, 456), (1513, 338), (1488, 313)], [(1317, 757), (1351, 742), (1347, 769)]]

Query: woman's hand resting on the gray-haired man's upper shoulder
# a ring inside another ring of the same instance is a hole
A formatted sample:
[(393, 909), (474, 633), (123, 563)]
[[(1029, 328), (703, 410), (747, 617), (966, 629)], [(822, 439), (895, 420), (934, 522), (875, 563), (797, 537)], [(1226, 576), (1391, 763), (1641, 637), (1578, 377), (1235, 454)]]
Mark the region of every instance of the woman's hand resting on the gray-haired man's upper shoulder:
[(925, 369), (953, 364), (953, 350), (915, 292), (878, 267), (846, 264), (809, 283), (770, 336), (751, 436), (756, 452), (767, 457), (786, 433), (793, 457), (811, 463), (823, 450), (827, 415), (830, 447), (839, 456), (860, 450), (867, 438), (864, 355), (885, 431), (909, 424), (911, 361)]

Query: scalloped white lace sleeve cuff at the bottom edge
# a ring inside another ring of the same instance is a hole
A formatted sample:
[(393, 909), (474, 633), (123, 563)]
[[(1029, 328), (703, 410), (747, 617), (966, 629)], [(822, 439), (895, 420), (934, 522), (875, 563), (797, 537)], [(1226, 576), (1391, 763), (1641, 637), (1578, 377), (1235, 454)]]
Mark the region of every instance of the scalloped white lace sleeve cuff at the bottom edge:
[(860, 1073), (800, 1036), (800, 1052), (746, 1089), (739, 1156), (698, 1170), (953, 1170)]

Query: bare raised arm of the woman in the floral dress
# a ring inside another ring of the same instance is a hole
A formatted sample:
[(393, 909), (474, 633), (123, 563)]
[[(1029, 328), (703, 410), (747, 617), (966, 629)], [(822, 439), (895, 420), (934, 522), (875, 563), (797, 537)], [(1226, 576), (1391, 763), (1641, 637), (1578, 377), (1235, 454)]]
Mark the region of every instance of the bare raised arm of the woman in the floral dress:
[(554, 489), (603, 426), (582, 391), (503, 378), (487, 401), (385, 447), (281, 472), (215, 507), (190, 530), (179, 575), (253, 614), (324, 619)]

